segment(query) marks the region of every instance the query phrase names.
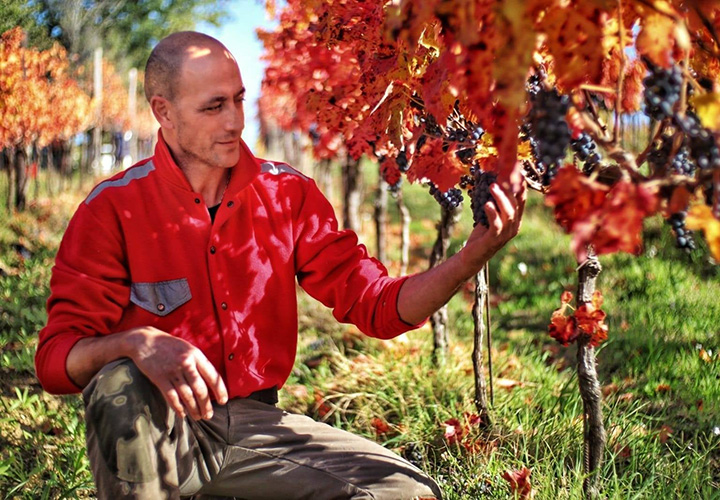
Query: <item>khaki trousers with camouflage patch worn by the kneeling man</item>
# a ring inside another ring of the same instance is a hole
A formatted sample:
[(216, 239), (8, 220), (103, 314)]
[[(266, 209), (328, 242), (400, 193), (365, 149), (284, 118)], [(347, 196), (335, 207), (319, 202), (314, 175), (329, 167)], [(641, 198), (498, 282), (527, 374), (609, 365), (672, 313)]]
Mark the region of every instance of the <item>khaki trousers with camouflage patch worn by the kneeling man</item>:
[(100, 499), (440, 498), (419, 469), (382, 446), (252, 399), (181, 419), (128, 359), (83, 391)]

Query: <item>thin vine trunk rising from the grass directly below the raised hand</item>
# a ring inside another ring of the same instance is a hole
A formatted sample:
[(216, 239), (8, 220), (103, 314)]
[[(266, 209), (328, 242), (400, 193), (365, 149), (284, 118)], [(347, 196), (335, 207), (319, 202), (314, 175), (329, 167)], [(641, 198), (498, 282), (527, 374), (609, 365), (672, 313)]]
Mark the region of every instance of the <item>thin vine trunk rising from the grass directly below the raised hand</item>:
[[(490, 410), (487, 399), (487, 384), (483, 370), (483, 339), (486, 331), (486, 304), (490, 289), (487, 282), (487, 265), (475, 275), (475, 302), (473, 303), (473, 372), (475, 374), (475, 408), (483, 425), (490, 425)], [(489, 337), (488, 337), (489, 338)]]

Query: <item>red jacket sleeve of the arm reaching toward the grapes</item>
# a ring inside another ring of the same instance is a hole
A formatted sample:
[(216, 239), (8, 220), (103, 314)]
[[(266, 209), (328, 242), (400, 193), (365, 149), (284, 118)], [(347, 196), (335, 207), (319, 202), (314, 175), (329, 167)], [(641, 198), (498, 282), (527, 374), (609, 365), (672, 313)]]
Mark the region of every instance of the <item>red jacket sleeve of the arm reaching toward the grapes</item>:
[(382, 339), (425, 323), (411, 325), (400, 318), (398, 293), (407, 277), (389, 277), (353, 231), (338, 230), (332, 206), (312, 180), (295, 224), (295, 249), (300, 286), (332, 308), (338, 321)]

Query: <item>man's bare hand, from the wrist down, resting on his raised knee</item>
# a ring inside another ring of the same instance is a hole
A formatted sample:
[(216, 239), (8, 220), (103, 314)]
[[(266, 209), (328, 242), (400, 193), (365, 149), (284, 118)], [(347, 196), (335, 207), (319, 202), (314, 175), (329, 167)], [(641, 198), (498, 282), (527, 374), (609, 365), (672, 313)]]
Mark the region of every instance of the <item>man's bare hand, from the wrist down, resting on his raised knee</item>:
[(222, 377), (197, 347), (153, 327), (130, 330), (126, 335), (134, 346), (130, 358), (181, 417), (212, 418), (210, 391), (220, 404), (227, 402)]

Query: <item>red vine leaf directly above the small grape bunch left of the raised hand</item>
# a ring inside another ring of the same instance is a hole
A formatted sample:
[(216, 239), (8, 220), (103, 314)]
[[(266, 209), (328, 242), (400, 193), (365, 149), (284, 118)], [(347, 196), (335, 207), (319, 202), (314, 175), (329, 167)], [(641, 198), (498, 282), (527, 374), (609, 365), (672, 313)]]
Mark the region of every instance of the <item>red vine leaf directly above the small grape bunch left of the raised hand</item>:
[(455, 186), (467, 167), (460, 162), (452, 148), (443, 151), (442, 139), (428, 138), (419, 151), (415, 151), (407, 177), (410, 182), (427, 179), (440, 191)]

